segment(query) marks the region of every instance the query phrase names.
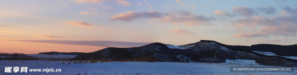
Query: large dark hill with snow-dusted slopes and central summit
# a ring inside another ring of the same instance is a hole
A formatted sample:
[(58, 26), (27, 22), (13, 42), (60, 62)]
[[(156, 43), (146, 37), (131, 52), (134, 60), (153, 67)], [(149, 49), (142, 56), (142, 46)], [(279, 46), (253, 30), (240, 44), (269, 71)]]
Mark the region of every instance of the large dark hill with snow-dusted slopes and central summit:
[(226, 59), (249, 59), (268, 66), (297, 67), (297, 60), (281, 56), (268, 56), (253, 52), (257, 46), (232, 46), (216, 41), (200, 40), (200, 42), (173, 46), (162, 43), (151, 43), (132, 48), (108, 47), (99, 51), (79, 55), (73, 59), (150, 59), (161, 62), (209, 62), (222, 63)]

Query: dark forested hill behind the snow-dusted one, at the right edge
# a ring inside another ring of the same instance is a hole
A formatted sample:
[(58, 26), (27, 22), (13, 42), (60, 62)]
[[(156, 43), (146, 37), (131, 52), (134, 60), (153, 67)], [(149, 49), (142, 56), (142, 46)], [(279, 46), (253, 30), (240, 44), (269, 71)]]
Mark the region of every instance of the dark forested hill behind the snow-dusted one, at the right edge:
[(249, 51), (272, 52), (278, 56), (297, 56), (297, 44), (275, 45), (275, 44), (255, 44), (252, 46), (234, 46)]

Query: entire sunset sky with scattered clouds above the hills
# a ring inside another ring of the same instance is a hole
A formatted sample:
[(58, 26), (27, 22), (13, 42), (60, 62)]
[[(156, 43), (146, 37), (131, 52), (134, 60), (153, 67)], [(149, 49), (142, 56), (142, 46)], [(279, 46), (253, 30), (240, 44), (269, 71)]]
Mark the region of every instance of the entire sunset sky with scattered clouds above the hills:
[(0, 0), (0, 52), (297, 44), (295, 0)]

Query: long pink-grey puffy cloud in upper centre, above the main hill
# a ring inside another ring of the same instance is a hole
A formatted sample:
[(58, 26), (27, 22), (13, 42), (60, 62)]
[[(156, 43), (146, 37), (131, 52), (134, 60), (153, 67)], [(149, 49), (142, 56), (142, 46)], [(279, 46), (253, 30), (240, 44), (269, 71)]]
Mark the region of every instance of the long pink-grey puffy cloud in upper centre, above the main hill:
[(204, 17), (203, 15), (194, 15), (190, 11), (175, 10), (161, 13), (160, 11), (142, 11), (133, 12), (126, 11), (126, 13), (117, 14), (110, 18), (110, 20), (133, 21), (135, 19), (153, 19), (159, 22), (170, 22), (173, 24), (193, 25), (211, 25), (210, 21), (216, 20), (214, 17)]

